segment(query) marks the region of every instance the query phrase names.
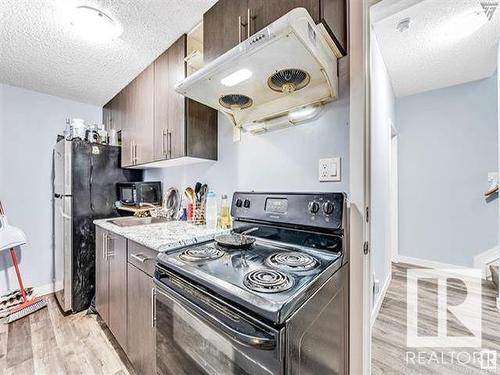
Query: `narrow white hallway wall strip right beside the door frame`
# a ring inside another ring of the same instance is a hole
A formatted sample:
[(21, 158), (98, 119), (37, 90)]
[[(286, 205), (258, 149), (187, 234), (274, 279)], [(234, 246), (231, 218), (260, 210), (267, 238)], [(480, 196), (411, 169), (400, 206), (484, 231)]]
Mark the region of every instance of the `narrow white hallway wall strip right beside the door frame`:
[(376, 308), (382, 287), (391, 274), (391, 124), (395, 120), (394, 93), (377, 39), (371, 33), (371, 261), (380, 283), (373, 295)]

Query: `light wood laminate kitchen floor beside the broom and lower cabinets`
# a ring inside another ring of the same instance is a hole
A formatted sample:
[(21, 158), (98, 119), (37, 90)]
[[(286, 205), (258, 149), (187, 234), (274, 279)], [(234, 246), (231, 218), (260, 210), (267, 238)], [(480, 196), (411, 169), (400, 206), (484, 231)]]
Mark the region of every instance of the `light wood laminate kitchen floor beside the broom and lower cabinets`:
[(47, 308), (0, 323), (0, 374), (134, 374), (97, 315), (64, 316), (54, 296), (46, 298)]

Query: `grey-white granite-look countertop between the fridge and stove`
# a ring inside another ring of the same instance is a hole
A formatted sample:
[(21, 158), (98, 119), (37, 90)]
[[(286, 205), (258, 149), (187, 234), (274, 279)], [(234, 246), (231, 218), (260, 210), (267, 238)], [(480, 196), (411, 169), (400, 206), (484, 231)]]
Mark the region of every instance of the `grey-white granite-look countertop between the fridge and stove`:
[(94, 224), (159, 252), (210, 241), (217, 234), (228, 232), (227, 229), (207, 228), (205, 225), (194, 225), (185, 221), (120, 227), (109, 220), (113, 218), (95, 220)]

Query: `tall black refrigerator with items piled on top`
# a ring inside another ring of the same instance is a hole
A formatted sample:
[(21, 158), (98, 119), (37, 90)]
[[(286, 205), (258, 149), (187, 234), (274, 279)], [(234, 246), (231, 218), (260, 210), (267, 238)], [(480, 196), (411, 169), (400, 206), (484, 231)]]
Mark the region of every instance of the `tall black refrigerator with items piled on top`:
[(95, 219), (118, 216), (117, 182), (142, 181), (120, 168), (121, 147), (79, 139), (58, 141), (53, 152), (54, 283), (64, 311), (89, 307), (95, 293)]

